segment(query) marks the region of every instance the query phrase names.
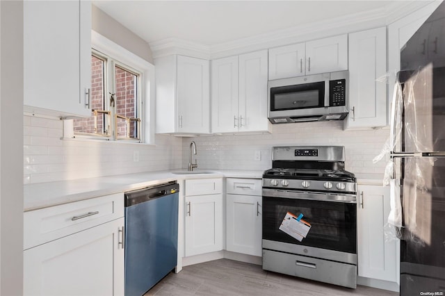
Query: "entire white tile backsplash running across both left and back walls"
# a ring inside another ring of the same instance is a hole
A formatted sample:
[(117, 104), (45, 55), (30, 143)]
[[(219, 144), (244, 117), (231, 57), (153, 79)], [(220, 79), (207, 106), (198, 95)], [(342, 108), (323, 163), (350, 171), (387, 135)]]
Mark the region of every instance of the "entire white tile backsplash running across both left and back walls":
[[(271, 126), (261, 135), (214, 135), (179, 138), (156, 135), (156, 145), (60, 140), (63, 122), (24, 116), (24, 183), (153, 172), (188, 165), (190, 142), (197, 144), (198, 169), (267, 170), (274, 146), (342, 145), (346, 169), (383, 174), (385, 163), (372, 163), (389, 136), (388, 129), (343, 131), (343, 122), (305, 122)], [(133, 161), (133, 151), (139, 161)], [(261, 160), (255, 161), (256, 151)]]

